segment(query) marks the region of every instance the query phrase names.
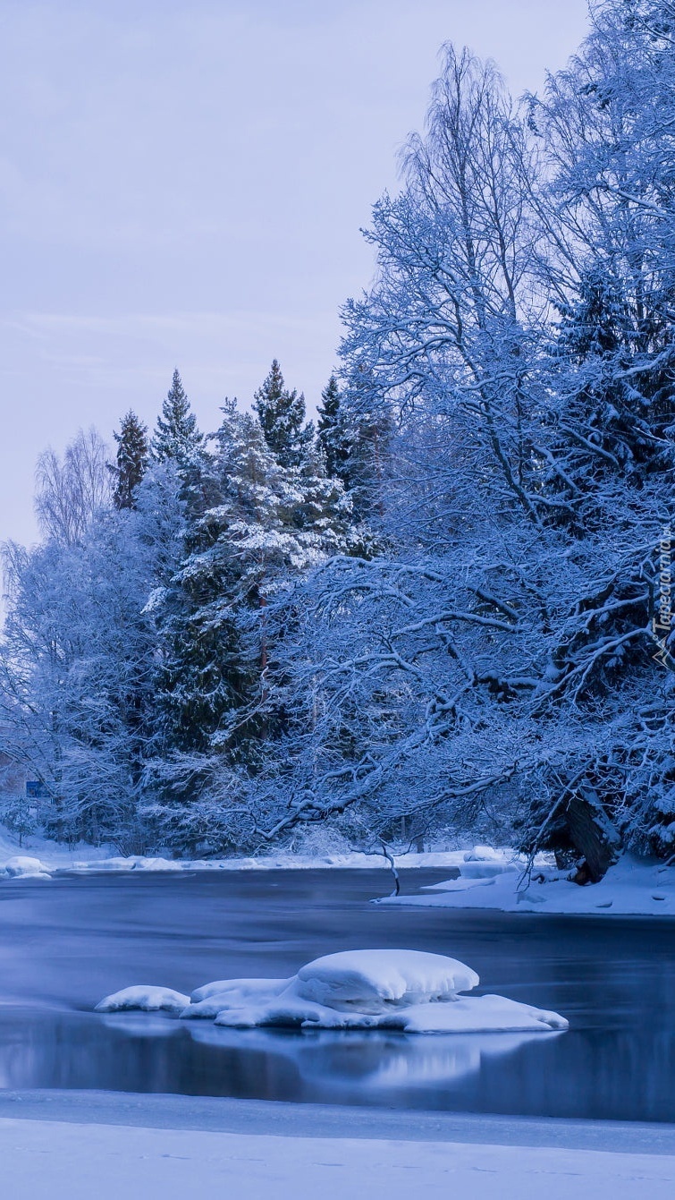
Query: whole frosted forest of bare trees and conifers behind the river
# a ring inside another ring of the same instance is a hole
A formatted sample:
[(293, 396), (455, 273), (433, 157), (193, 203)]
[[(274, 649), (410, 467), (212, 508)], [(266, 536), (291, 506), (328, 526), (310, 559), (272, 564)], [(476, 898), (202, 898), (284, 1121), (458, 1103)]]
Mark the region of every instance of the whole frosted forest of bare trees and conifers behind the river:
[(155, 431), (41, 456), (6, 823), (675, 851), (675, 2), (593, 4), (518, 103), (445, 47), (400, 169), (315, 424), (273, 361), (204, 434), (176, 371)]

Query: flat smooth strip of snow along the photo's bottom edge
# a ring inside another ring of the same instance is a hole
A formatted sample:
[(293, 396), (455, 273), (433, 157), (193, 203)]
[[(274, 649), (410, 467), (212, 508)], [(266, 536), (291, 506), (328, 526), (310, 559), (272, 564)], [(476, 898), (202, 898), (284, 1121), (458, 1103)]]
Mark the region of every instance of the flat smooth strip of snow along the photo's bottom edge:
[(7, 1118), (0, 1163), (4, 1194), (16, 1200), (670, 1200), (675, 1188), (675, 1157), (665, 1154)]

